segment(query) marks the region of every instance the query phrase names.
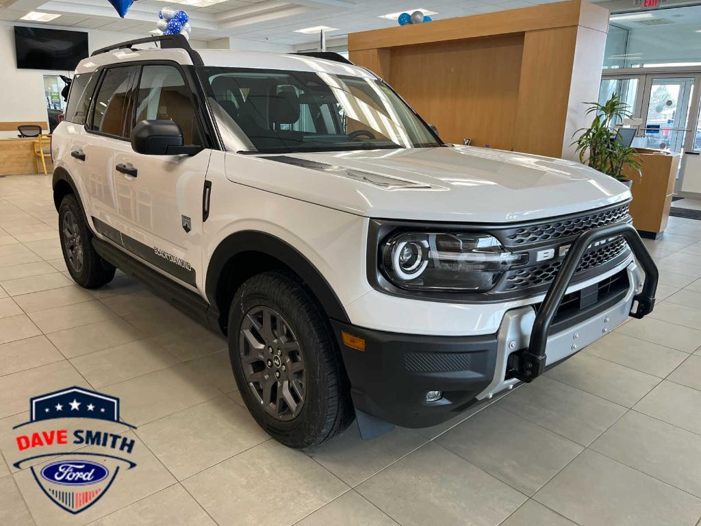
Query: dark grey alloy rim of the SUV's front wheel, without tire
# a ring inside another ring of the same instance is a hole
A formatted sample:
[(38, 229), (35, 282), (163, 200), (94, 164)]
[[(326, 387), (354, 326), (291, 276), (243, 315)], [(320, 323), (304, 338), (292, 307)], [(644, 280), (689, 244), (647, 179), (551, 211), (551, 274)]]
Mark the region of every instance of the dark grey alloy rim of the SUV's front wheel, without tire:
[(304, 357), (283, 316), (266, 306), (250, 309), (241, 324), (239, 352), (257, 402), (278, 420), (297, 417), (306, 393)]

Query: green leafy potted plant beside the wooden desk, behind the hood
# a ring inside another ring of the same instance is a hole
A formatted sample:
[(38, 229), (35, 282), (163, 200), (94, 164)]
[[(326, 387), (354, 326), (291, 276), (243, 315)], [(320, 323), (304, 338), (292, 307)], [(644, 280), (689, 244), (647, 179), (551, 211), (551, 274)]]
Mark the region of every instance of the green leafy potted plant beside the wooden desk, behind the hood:
[(641, 175), (642, 163), (633, 147), (628, 147), (616, 140), (618, 130), (615, 126), (625, 117), (632, 116), (628, 106), (615, 93), (604, 104), (587, 102), (588, 114), (595, 114), (589, 128), (581, 128), (574, 135), (581, 133), (572, 144), (576, 145), (580, 163), (586, 164), (619, 180), (627, 187), (632, 181), (623, 177), (623, 168), (629, 166)]

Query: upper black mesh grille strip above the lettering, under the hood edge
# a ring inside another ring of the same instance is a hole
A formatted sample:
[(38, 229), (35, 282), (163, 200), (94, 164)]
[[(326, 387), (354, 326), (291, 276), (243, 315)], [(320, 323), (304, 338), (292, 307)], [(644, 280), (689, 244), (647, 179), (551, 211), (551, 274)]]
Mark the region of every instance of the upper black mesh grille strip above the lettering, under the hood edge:
[(536, 245), (544, 241), (567, 238), (581, 234), (585, 230), (603, 227), (629, 220), (628, 203), (600, 212), (587, 213), (578, 217), (566, 217), (562, 220), (534, 224), (530, 227), (519, 227), (506, 233), (505, 245), (522, 246)]

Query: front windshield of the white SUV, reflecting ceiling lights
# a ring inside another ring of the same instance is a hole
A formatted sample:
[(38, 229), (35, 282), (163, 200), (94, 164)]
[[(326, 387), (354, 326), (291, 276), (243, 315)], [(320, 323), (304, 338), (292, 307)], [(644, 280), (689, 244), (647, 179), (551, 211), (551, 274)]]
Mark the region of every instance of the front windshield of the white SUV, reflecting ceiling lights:
[(271, 69), (198, 69), (227, 147), (231, 137), (250, 151), (265, 153), (441, 145), (407, 104), (377, 79)]

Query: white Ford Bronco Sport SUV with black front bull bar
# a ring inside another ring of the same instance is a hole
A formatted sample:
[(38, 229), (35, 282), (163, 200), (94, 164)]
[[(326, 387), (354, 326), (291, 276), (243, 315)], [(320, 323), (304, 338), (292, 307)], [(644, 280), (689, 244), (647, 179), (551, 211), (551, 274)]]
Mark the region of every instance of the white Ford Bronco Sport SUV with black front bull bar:
[(292, 447), (438, 424), (653, 308), (624, 185), (444, 144), (334, 53), (99, 50), (52, 150), (76, 283), (118, 267), (224, 332)]

